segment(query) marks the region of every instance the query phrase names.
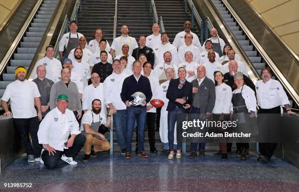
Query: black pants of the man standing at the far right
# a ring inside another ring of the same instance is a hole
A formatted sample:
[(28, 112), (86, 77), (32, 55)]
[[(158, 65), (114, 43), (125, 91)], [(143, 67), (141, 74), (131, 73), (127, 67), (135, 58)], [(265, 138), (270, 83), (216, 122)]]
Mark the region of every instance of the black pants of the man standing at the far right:
[[(258, 125), (262, 129), (265, 127), (269, 127), (269, 129), (277, 129), (277, 126), (279, 128), (279, 114), (280, 114), (280, 107), (275, 107), (272, 109), (259, 109), (257, 111), (258, 114), (278, 114), (278, 117), (275, 118), (273, 115), (269, 115), (269, 118), (267, 118), (267, 115), (264, 115), (260, 118), (258, 118)], [(267, 125), (265, 125), (267, 124)], [(274, 128), (276, 126), (276, 128)], [(265, 130), (263, 130), (265, 131)], [(266, 130), (267, 131), (267, 130)], [(268, 130), (269, 134), (271, 130)], [(271, 138), (270, 138), (271, 139)], [(258, 143), (258, 150), (260, 154), (263, 154), (267, 156), (269, 159), (271, 159), (275, 148), (277, 146), (277, 143)]]

